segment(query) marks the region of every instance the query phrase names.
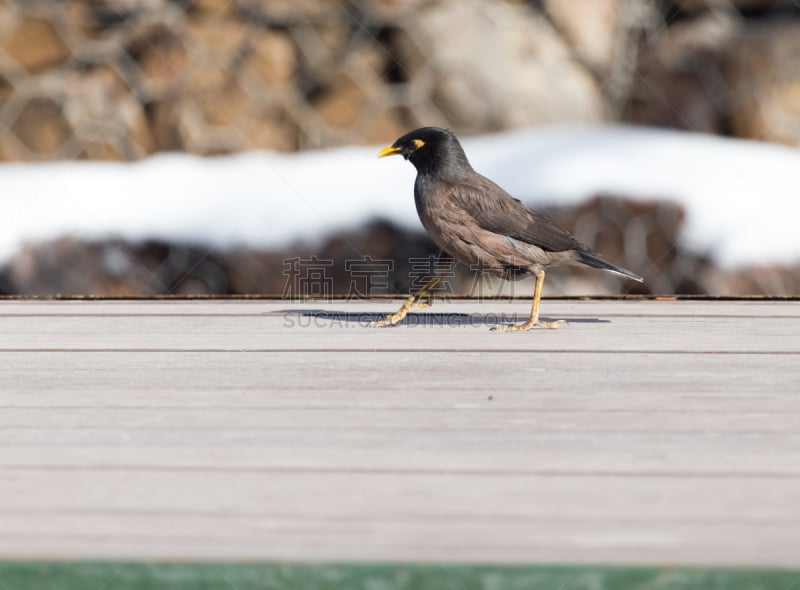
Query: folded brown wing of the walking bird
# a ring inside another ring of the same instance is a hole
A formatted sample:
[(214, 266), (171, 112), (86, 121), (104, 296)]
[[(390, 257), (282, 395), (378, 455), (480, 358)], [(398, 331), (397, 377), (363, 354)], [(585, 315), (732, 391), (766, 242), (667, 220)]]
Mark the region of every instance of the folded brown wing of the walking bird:
[(548, 252), (589, 250), (543, 213), (528, 209), (488, 178), (474, 173), (452, 185), (450, 201), (483, 229), (533, 244)]

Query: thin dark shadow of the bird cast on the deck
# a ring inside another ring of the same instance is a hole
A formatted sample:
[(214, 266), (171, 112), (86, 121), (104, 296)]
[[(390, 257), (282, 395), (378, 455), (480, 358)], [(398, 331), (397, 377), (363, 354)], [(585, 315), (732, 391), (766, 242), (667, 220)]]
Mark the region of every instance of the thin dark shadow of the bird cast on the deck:
[[(276, 313), (284, 316), (295, 316), (312, 320), (330, 321), (333, 324), (360, 324), (366, 326), (370, 322), (381, 320), (386, 317), (386, 313), (374, 312), (346, 312), (346, 311), (326, 311), (322, 309), (286, 309)], [(409, 313), (398, 326), (502, 326), (505, 324), (519, 324), (528, 319), (527, 314), (503, 314), (503, 313)], [(600, 318), (550, 318), (540, 317), (542, 321), (555, 321), (563, 319), (567, 324), (610, 324), (611, 320)]]

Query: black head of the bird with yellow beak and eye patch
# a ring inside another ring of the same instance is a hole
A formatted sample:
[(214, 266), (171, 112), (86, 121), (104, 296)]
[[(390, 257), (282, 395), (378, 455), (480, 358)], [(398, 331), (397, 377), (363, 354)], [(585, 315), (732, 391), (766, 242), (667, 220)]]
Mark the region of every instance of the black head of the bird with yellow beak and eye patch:
[(406, 133), (378, 157), (400, 155), (414, 164), (420, 174), (457, 178), (472, 171), (464, 149), (456, 136), (438, 127), (420, 127)]

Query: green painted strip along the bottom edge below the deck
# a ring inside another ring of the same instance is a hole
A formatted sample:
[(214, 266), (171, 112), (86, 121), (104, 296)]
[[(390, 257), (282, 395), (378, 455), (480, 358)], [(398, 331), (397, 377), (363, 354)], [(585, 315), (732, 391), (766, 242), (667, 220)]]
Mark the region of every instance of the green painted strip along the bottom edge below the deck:
[(0, 562), (2, 590), (800, 590), (800, 570)]

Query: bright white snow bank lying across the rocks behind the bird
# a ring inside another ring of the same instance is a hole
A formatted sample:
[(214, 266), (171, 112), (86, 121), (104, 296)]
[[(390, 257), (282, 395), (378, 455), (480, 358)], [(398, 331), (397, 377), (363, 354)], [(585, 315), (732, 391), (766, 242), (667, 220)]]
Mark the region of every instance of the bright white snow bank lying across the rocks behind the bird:
[[(464, 145), (479, 172), (526, 203), (668, 198), (688, 213), (683, 245), (723, 266), (800, 261), (800, 150), (627, 127), (536, 128)], [(65, 234), (267, 247), (376, 216), (421, 227), (413, 167), (377, 150), (3, 164), (0, 261)]]

